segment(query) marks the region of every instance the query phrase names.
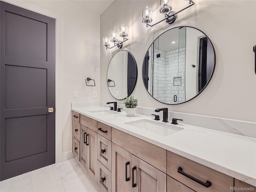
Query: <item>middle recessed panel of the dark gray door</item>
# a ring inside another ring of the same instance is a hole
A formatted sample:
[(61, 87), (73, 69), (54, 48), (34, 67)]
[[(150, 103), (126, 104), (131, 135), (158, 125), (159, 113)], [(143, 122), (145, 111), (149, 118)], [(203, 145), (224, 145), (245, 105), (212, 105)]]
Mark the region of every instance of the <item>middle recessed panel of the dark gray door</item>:
[(5, 109), (47, 106), (47, 69), (6, 65), (5, 98)]

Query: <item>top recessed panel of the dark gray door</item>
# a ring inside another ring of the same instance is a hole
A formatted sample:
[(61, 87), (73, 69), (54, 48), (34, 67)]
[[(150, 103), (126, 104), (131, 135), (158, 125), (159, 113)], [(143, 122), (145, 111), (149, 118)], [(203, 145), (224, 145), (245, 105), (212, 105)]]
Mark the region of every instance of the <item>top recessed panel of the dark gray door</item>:
[(5, 56), (47, 61), (47, 23), (7, 11), (5, 23)]

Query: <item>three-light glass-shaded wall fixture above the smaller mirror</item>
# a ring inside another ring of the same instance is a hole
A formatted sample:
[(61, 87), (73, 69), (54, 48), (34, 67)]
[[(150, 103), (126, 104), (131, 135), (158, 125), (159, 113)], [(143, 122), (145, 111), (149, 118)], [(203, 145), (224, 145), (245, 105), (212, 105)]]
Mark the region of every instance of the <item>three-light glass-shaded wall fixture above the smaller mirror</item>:
[[(110, 38), (109, 37), (104, 37), (103, 38), (103, 46), (105, 46), (106, 49), (111, 49), (115, 46), (117, 46), (118, 48), (122, 48), (123, 42), (128, 40), (127, 38), (125, 38), (125, 37), (128, 36), (128, 27), (126, 25), (121, 25), (120, 26), (119, 36), (123, 38), (123, 41), (119, 41), (117, 32), (112, 31), (110, 33)], [(110, 46), (110, 41), (114, 43), (114, 46), (109, 47)]]

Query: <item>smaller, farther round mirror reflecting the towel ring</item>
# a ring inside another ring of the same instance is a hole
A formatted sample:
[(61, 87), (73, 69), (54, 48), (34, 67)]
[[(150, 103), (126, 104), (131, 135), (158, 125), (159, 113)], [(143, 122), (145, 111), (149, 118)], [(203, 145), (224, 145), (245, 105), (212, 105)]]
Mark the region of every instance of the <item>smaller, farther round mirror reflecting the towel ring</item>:
[(114, 54), (108, 65), (107, 86), (110, 94), (122, 100), (132, 94), (137, 81), (137, 64), (128, 51)]

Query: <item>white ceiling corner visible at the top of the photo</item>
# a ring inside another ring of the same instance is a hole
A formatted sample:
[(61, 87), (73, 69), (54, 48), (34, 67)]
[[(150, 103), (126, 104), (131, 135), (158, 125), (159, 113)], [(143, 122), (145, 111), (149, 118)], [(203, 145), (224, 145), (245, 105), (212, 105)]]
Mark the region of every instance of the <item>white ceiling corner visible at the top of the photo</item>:
[(102, 14), (114, 0), (70, 0), (92, 12)]

